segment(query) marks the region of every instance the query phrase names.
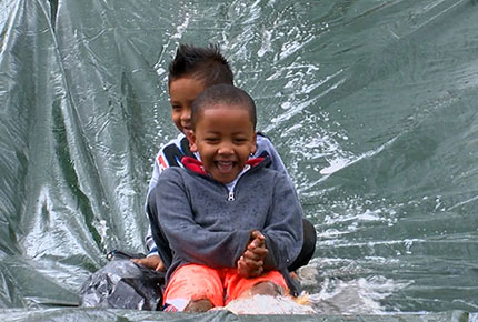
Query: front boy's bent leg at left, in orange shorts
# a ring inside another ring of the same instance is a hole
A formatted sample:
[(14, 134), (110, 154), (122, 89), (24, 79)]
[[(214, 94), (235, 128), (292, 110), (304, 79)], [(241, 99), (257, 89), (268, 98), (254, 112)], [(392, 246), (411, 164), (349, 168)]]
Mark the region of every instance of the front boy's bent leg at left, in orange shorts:
[(222, 306), (223, 288), (219, 271), (199, 264), (180, 266), (166, 286), (163, 303), (166, 311), (205, 312)]

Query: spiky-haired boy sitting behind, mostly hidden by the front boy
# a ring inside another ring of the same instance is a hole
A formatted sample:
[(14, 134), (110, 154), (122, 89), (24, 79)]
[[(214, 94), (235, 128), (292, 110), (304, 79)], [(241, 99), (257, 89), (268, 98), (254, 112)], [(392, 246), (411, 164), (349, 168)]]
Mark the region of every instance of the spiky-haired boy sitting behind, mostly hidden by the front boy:
[[(169, 66), (169, 94), (171, 103), (171, 120), (180, 131), (177, 139), (165, 144), (159, 151), (156, 160), (152, 177), (150, 180), (148, 194), (157, 185), (161, 172), (169, 167), (183, 167), (181, 158), (193, 157), (199, 158), (198, 153), (193, 153), (189, 149), (189, 142), (186, 134), (190, 132), (191, 104), (193, 100), (205, 89), (215, 84), (233, 84), (233, 73), (228, 61), (219, 52), (217, 47), (193, 47), (180, 44), (175, 59)], [(269, 155), (271, 160), (270, 169), (285, 173), (288, 178), (288, 183), (293, 187), (286, 167), (279, 157), (279, 153), (272, 143), (263, 135), (257, 135), (257, 150), (255, 155)], [(316, 246), (316, 231), (313, 225), (307, 220), (303, 221), (303, 245), (297, 260), (290, 264), (289, 270), (295, 271), (298, 268), (307, 264), (313, 255)], [(157, 240), (157, 242), (155, 242)], [(168, 241), (163, 237), (161, 230), (156, 232), (156, 238), (152, 238), (151, 229), (146, 237), (146, 244), (149, 250), (149, 255), (146, 259), (136, 259), (137, 263), (143, 264), (152, 270), (162, 271), (169, 266), (172, 260), (172, 254), (168, 251)], [(158, 246), (163, 249), (163, 252), (158, 254)]]

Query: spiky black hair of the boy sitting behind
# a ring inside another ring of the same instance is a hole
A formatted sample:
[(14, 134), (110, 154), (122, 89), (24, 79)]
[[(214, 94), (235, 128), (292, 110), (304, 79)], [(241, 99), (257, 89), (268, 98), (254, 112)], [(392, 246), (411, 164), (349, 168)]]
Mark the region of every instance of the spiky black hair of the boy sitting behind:
[(206, 88), (220, 83), (233, 84), (232, 70), (217, 44), (180, 44), (169, 64), (168, 84), (181, 77), (197, 78), (205, 82)]

